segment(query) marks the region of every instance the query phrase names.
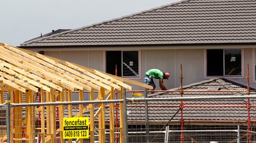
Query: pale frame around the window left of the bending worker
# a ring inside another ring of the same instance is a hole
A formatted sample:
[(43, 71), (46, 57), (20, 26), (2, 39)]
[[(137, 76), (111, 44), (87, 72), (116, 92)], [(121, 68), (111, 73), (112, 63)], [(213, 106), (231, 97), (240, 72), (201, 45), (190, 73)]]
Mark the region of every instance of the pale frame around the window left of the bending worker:
[[(141, 79), (142, 77), (142, 73), (141, 73), (141, 50), (104, 50), (103, 51), (103, 70), (106, 72), (106, 51), (121, 51), (121, 60), (123, 60), (123, 51), (138, 51), (138, 66), (139, 66), (139, 70), (138, 70), (138, 74), (139, 76), (123, 76), (123, 72), (122, 72), (122, 77), (124, 78), (128, 78), (128, 79)], [(122, 65), (122, 69), (121, 71), (123, 71), (123, 64), (122, 64), (123, 61), (121, 61), (121, 65)]]

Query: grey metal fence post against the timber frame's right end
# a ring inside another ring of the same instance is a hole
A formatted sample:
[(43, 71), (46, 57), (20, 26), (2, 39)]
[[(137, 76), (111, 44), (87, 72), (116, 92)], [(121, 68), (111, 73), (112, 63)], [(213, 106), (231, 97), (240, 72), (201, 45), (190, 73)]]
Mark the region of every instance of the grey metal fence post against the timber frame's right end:
[(123, 89), (123, 134), (124, 143), (128, 143), (127, 112), (126, 112), (126, 90)]

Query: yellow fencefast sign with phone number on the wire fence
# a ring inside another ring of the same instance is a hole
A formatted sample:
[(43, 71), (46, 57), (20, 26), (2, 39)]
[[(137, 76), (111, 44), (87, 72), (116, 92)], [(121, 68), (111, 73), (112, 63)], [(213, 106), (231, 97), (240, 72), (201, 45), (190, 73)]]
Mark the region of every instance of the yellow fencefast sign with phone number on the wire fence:
[(89, 138), (89, 117), (63, 118), (63, 138)]

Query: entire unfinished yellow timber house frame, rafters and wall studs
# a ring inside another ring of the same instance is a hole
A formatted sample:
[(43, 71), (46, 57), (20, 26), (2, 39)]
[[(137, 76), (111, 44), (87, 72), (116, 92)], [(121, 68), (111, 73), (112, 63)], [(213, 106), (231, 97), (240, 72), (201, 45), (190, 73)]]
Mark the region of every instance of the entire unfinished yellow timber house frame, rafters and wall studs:
[[(146, 85), (130, 79), (117, 77), (91, 68), (83, 67), (67, 61), (52, 58), (50, 56), (35, 53), (29, 50), (0, 43), (0, 103), (4, 103), (4, 92), (10, 95), (11, 103), (23, 103), (26, 96), (26, 103), (35, 102), (35, 94), (39, 93), (40, 102), (63, 102), (72, 101), (72, 91), (79, 91), (79, 101), (83, 100), (83, 92), (90, 92), (90, 100), (113, 100), (114, 90), (132, 90), (126, 83), (138, 85), (146, 89), (153, 89)], [(95, 99), (94, 93), (98, 91)], [(120, 92), (122, 98), (122, 92)], [(14, 100), (14, 101), (13, 101)], [(21, 143), (22, 127), (25, 125), (26, 142), (34, 142), (35, 139), (35, 114), (40, 114), (40, 134), (44, 136), (40, 142), (56, 142), (56, 134), (62, 131), (63, 105), (59, 105), (59, 128), (56, 127), (56, 106), (26, 107), (26, 120), (22, 118), (22, 107), (13, 107), (11, 113), (11, 142)], [(72, 117), (72, 105), (69, 105), (69, 117)], [(105, 142), (104, 136), (104, 108), (105, 104), (99, 104), (99, 109), (94, 113), (94, 105), (86, 107), (79, 105), (79, 113), (73, 117), (82, 117), (83, 112), (90, 110), (90, 142), (94, 142), (94, 119), (98, 116), (99, 142)], [(123, 123), (123, 109), (120, 103), (120, 129)], [(114, 103), (110, 104), (110, 141), (114, 142)], [(12, 109), (11, 109), (12, 110)], [(46, 116), (46, 117), (45, 117)], [(14, 118), (13, 118), (14, 117)], [(45, 127), (47, 125), (48, 128)], [(14, 137), (14, 136), (15, 137)], [(46, 138), (45, 138), (46, 137)], [(7, 136), (0, 139), (6, 140)], [(77, 141), (82, 142), (83, 139)], [(60, 142), (65, 142), (60, 134)], [(69, 142), (72, 142), (69, 139)], [(123, 142), (122, 131), (120, 130), (120, 142)]]

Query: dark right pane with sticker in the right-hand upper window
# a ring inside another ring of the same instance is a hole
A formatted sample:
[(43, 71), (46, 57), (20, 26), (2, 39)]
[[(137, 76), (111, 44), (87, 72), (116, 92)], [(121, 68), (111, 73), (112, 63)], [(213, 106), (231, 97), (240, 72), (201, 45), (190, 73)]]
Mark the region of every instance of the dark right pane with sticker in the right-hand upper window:
[(225, 75), (241, 75), (241, 50), (225, 50)]

